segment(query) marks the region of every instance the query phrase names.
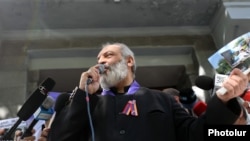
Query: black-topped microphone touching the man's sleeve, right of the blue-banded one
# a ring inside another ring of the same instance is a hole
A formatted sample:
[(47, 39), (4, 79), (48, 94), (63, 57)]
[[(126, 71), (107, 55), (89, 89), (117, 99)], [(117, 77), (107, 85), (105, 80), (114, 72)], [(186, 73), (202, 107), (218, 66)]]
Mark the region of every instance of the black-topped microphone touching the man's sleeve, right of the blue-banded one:
[(62, 110), (62, 108), (67, 104), (68, 100), (69, 100), (69, 97), (70, 97), (70, 94), (68, 93), (62, 93), (60, 94), (57, 99), (56, 99), (56, 103), (55, 103), (55, 106), (54, 106), (54, 113), (49, 121), (49, 125), (48, 125), (48, 128), (51, 127), (54, 119), (55, 119), (55, 116), (57, 114), (59, 114)]

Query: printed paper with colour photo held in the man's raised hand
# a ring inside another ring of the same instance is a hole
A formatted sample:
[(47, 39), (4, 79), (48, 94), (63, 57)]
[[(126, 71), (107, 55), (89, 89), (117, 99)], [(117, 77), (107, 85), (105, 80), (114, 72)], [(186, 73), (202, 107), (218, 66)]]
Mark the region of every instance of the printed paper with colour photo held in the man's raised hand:
[[(233, 68), (241, 69), (249, 74), (250, 69), (250, 32), (239, 36), (219, 49), (208, 58), (209, 63), (216, 71), (216, 75), (229, 75)], [(223, 82), (221, 82), (222, 84)], [(224, 95), (227, 90), (220, 88), (218, 93)]]

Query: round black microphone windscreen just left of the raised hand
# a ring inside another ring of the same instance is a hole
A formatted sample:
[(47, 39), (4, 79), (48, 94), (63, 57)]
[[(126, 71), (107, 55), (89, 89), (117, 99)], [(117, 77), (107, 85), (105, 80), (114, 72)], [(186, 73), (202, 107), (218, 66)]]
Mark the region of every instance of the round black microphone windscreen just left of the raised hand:
[(214, 80), (209, 76), (201, 75), (195, 79), (195, 85), (203, 90), (210, 90), (214, 88)]

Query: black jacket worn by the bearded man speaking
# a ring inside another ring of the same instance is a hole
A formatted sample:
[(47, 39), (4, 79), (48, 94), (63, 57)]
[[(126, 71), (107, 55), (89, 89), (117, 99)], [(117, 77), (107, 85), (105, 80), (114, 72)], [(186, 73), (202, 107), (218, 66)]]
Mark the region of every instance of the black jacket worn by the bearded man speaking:
[[(214, 96), (203, 116), (192, 117), (170, 95), (141, 87), (134, 95), (90, 95), (89, 120), (85, 97), (78, 89), (57, 113), (48, 141), (90, 141), (92, 134), (95, 141), (203, 141), (204, 125), (232, 124), (240, 113), (235, 99), (225, 105)], [(129, 100), (138, 116), (121, 113)]]

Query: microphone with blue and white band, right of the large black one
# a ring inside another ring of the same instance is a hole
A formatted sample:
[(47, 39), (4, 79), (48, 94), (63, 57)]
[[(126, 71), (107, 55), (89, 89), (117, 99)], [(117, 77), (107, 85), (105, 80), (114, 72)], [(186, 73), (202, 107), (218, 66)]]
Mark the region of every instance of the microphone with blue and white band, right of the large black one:
[(32, 135), (31, 131), (32, 131), (32, 129), (34, 128), (34, 126), (37, 124), (37, 122), (39, 120), (48, 120), (48, 119), (51, 118), (51, 116), (54, 113), (54, 110), (52, 109), (54, 103), (55, 103), (55, 101), (54, 101), (54, 99), (51, 96), (48, 96), (44, 100), (44, 102), (42, 103), (42, 105), (34, 113), (34, 119), (30, 123), (29, 127), (23, 133), (21, 139), (23, 139), (24, 137), (28, 137), (28, 136)]

